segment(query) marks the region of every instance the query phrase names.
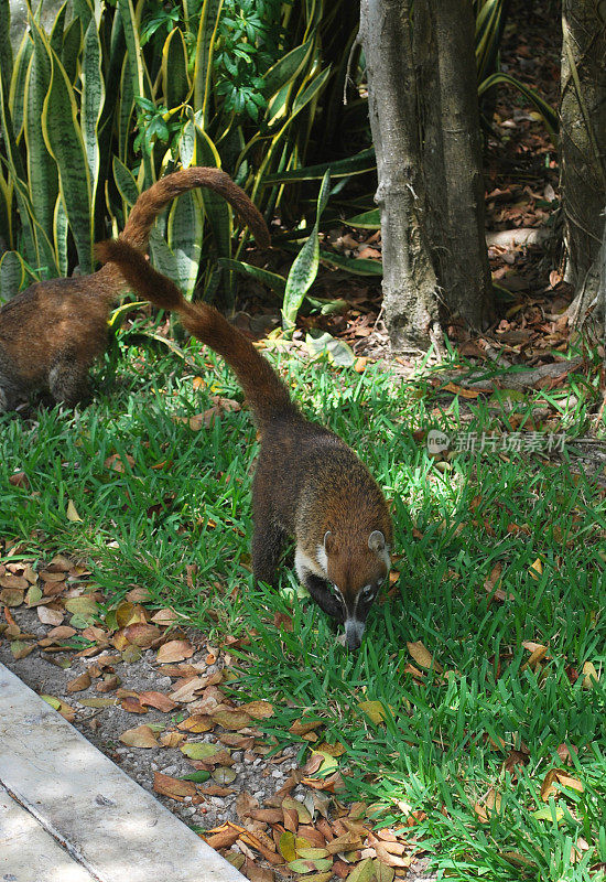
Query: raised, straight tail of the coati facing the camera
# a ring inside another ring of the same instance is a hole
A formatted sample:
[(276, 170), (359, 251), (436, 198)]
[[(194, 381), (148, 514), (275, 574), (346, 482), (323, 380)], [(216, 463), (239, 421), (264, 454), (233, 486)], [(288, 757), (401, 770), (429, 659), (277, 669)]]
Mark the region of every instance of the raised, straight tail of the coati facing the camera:
[(116, 263), (138, 297), (177, 312), (191, 334), (225, 358), (261, 432), (272, 418), (296, 412), (286, 387), (267, 358), (214, 306), (188, 303), (171, 279), (153, 269), (141, 251), (121, 238), (97, 245), (97, 256), (102, 262)]

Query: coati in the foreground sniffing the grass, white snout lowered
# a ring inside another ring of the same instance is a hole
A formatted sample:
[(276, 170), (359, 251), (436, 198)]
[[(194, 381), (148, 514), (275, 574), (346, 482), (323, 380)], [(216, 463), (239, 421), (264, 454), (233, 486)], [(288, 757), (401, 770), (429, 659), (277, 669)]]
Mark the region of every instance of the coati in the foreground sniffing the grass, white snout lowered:
[(295, 539), (299, 578), (324, 612), (360, 645), (366, 617), (390, 567), (391, 518), (377, 482), (354, 451), (309, 422), (269, 362), (217, 310), (188, 303), (145, 258), (113, 240), (98, 246), (138, 295), (176, 310), (187, 331), (221, 355), (252, 409), (261, 450), (252, 487), (252, 569), (274, 583), (283, 541)]

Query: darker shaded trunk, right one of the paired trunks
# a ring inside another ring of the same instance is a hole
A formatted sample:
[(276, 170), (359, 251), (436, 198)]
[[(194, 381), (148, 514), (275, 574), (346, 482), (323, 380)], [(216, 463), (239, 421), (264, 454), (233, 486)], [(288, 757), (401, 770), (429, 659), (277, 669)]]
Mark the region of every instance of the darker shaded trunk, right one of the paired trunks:
[(458, 312), (472, 327), (481, 329), (493, 310), (493, 286), (484, 220), (475, 22), (469, 0), (433, 0), (431, 6), (445, 193), (440, 280), (448, 310)]

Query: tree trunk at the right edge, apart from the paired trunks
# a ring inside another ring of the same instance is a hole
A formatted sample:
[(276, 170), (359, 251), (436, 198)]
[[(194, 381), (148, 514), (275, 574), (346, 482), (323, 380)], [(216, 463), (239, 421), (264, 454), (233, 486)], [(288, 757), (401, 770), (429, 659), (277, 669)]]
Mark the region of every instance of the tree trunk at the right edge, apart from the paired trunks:
[(563, 0), (560, 185), (566, 278), (575, 290), (574, 323), (599, 304), (606, 204), (606, 26), (604, 3)]

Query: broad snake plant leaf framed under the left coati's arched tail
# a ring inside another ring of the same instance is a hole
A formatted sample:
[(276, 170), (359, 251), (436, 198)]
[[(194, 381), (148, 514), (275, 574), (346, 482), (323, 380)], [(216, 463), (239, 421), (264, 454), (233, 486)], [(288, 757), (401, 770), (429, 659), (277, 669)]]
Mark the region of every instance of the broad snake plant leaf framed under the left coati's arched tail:
[(176, 262), (174, 281), (187, 300), (192, 299), (196, 287), (204, 214), (198, 192), (183, 193), (171, 206), (166, 227), (169, 247)]

